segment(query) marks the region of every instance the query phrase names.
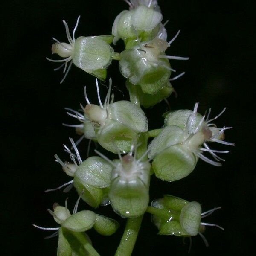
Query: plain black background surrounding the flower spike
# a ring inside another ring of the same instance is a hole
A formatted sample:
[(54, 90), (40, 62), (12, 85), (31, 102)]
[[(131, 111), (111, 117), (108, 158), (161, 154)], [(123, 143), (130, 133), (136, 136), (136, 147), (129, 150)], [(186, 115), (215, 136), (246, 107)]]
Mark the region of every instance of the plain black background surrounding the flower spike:
[[(226, 140), (236, 147), (225, 148), (222, 167), (210, 166), (199, 160), (191, 175), (174, 183), (151, 179), (151, 199), (163, 194), (175, 195), (188, 201), (198, 201), (204, 211), (221, 206), (222, 209), (205, 221), (219, 224), (207, 228), (204, 235), (209, 248), (199, 236), (192, 239), (190, 255), (251, 255), (255, 248), (255, 6), (253, 1), (164, 1), (159, 0), (169, 40), (180, 29), (180, 35), (168, 49), (169, 55), (189, 56), (189, 61), (172, 61), (177, 72), (186, 75), (173, 82), (178, 97), (169, 97), (172, 109), (192, 109), (199, 101), (199, 112), (209, 107), (212, 115), (224, 107), (227, 111), (216, 121), (221, 126), (233, 126), (226, 132)], [(84, 104), (83, 88), (96, 102), (94, 78), (75, 66), (67, 79), (61, 71), (53, 71), (57, 65), (46, 61), (51, 56), (51, 37), (66, 41), (65, 19), (73, 28), (81, 15), (76, 36), (104, 35), (111, 33), (116, 15), (128, 6), (121, 0), (37, 0), (9, 1), (0, 10), (2, 34), (0, 56), (0, 154), (2, 181), (0, 232), (2, 255), (55, 255), (57, 238), (44, 239), (49, 231), (38, 230), (32, 224), (57, 227), (47, 208), (56, 201), (73, 209), (77, 195), (62, 191), (45, 193), (45, 189), (69, 181), (60, 166), (54, 163), (57, 153), (68, 159), (62, 144), (68, 137), (77, 139), (71, 128), (61, 125), (76, 123), (68, 117), (64, 107), (79, 108)], [(122, 50), (120, 42), (116, 51)], [(113, 61), (109, 76), (113, 84), (124, 92), (124, 79), (116, 72), (118, 63)], [(254, 81), (253, 81), (254, 80)], [(102, 97), (106, 88), (101, 87)], [(123, 99), (116, 88), (115, 98)], [(147, 109), (150, 128), (163, 125), (165, 103)], [(87, 142), (79, 145), (83, 159)], [(93, 151), (91, 151), (91, 155)], [(83, 202), (79, 209), (90, 209)], [(88, 232), (93, 245), (104, 255), (113, 255), (122, 236), (125, 222), (115, 215), (111, 207), (100, 207), (101, 212), (120, 221), (116, 234), (103, 237), (93, 230)], [(133, 255), (187, 255), (189, 240), (172, 236), (157, 236), (157, 229), (145, 214), (141, 232)], [(163, 250), (160, 253), (160, 250)]]

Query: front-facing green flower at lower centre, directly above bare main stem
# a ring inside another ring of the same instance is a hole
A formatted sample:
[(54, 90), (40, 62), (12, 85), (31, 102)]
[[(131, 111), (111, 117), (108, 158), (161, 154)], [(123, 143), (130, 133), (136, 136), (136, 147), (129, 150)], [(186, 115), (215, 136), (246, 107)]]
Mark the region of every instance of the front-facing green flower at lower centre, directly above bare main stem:
[(108, 194), (111, 206), (122, 217), (138, 217), (148, 206), (151, 165), (135, 160), (131, 154), (114, 163)]

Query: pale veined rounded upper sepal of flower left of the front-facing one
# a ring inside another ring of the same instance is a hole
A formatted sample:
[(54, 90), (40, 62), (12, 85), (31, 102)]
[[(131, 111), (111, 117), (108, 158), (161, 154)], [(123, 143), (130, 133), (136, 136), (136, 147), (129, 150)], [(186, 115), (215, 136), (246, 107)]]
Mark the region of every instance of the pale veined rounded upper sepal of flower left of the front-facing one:
[(102, 157), (88, 157), (76, 169), (75, 176), (83, 183), (97, 188), (110, 185), (113, 166)]

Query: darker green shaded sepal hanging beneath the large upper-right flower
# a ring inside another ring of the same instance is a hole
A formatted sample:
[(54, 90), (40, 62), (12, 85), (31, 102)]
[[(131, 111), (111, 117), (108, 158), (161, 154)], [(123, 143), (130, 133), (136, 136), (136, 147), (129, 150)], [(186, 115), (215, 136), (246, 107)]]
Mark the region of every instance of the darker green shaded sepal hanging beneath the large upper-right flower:
[(156, 105), (163, 99), (168, 98), (173, 92), (172, 85), (169, 81), (167, 82), (167, 85), (160, 89), (156, 94), (143, 93), (140, 86), (131, 84), (128, 80), (126, 80), (126, 87), (128, 90), (136, 90), (137, 97), (139, 97), (140, 100), (140, 105), (142, 105), (144, 108), (149, 108)]

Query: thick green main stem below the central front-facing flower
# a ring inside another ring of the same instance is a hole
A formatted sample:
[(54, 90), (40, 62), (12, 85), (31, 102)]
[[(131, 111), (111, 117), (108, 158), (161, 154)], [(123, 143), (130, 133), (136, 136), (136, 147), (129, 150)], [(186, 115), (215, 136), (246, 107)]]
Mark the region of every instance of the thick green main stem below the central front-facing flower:
[(143, 215), (137, 218), (128, 218), (120, 244), (115, 256), (130, 256), (140, 230)]

